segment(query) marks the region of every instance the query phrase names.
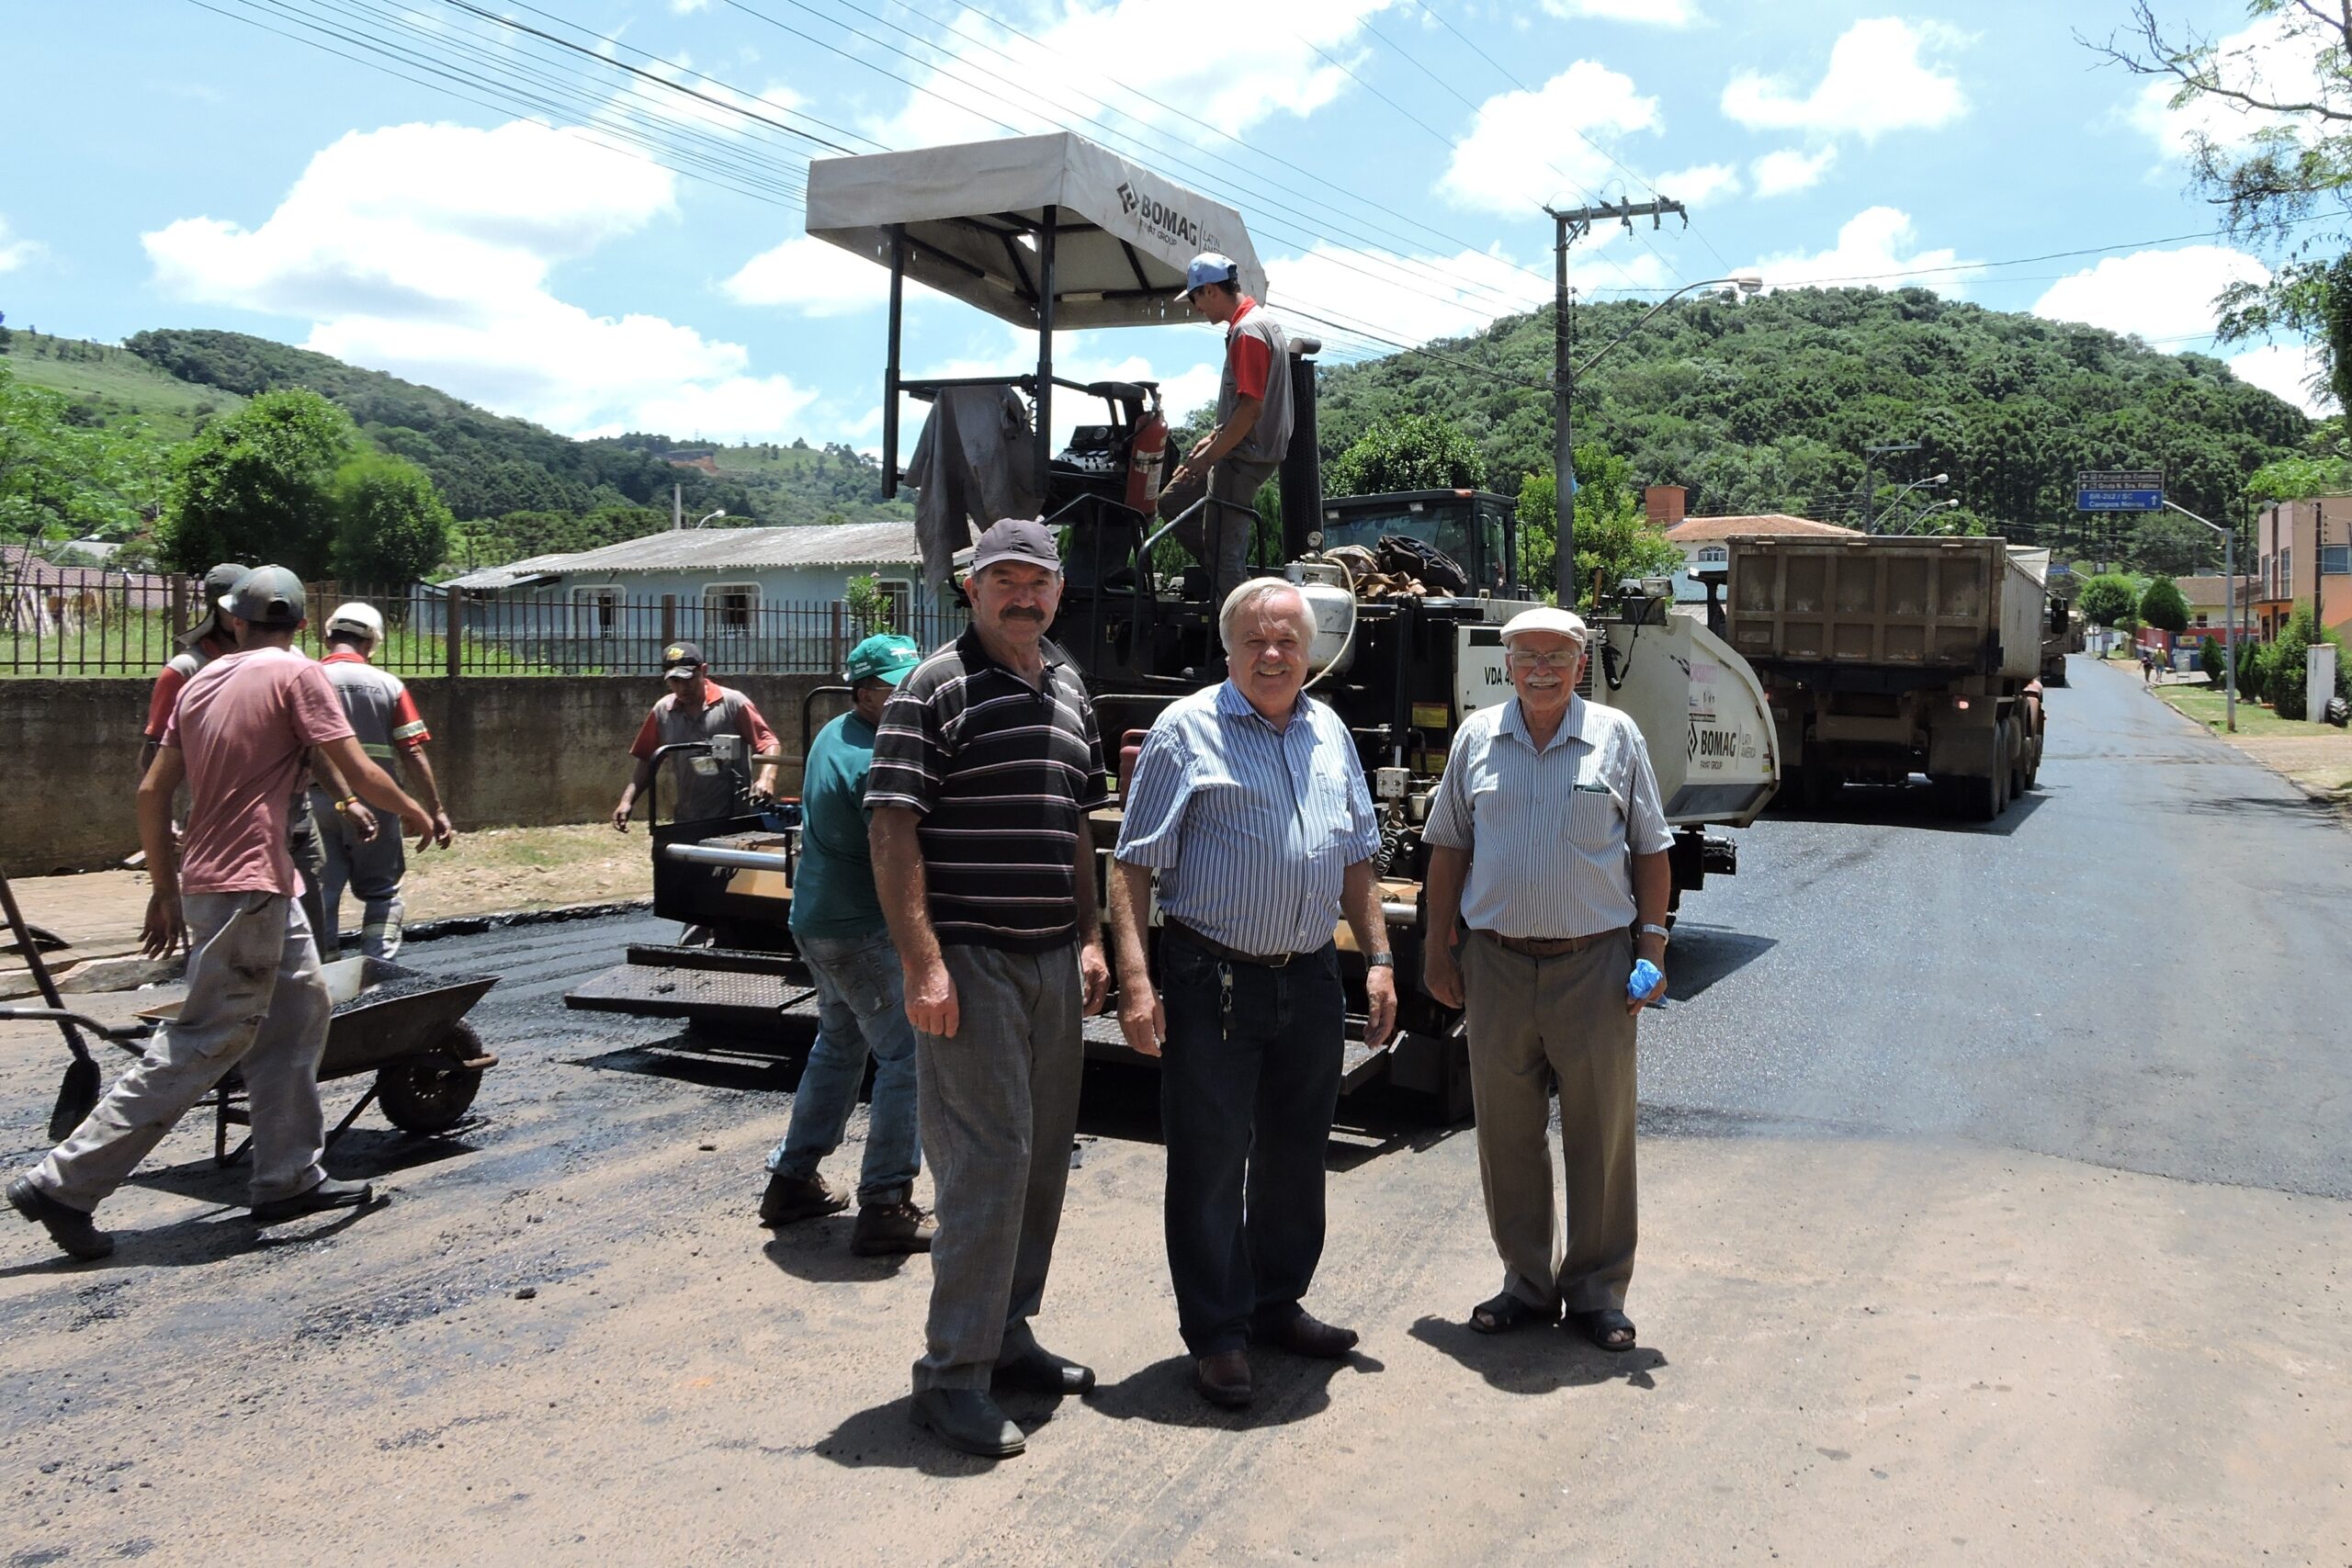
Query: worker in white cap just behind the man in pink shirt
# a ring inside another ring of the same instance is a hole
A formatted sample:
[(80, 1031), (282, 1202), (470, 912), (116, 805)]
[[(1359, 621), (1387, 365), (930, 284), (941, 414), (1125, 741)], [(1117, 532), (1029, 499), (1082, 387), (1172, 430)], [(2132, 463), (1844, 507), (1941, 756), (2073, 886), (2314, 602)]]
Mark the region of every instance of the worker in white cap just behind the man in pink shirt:
[[(390, 773), (393, 755), (407, 757), (416, 795), (433, 818), (433, 842), (449, 849), (456, 830), (449, 827), (440, 780), (433, 778), (433, 764), (426, 759), (426, 741), (433, 733), (400, 677), (369, 663), (379, 646), (383, 646), (383, 616), (376, 614), (374, 604), (348, 599), (327, 616), (327, 658), (320, 661), (320, 668), (327, 670), (334, 696), (343, 703), (343, 717), (350, 719), (367, 759)], [(390, 959), (400, 954), (405, 914), (400, 877), (409, 867), (407, 844), (397, 832), (362, 835), (350, 820), (355, 804), (360, 802), (348, 795), (334, 797), (315, 785), (310, 790), (310, 820), (320, 823), (320, 837), (327, 844), (327, 875), (320, 886), (325, 924), (318, 931), (318, 947), (327, 959), (334, 959), (341, 947), (343, 889), (348, 886), (360, 898), (360, 952), (372, 959)]]

